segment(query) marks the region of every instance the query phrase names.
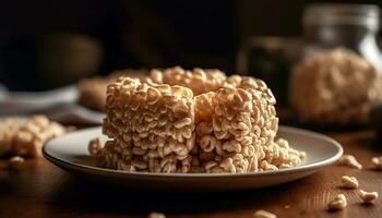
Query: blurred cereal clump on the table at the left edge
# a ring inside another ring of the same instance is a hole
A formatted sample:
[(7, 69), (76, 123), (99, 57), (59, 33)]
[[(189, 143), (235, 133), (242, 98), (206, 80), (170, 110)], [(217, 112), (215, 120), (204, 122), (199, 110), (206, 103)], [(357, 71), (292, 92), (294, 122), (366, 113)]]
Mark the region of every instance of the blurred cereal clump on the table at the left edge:
[(40, 156), (44, 144), (68, 130), (51, 122), (45, 116), (33, 116), (26, 120), (4, 119), (0, 121), (0, 156)]

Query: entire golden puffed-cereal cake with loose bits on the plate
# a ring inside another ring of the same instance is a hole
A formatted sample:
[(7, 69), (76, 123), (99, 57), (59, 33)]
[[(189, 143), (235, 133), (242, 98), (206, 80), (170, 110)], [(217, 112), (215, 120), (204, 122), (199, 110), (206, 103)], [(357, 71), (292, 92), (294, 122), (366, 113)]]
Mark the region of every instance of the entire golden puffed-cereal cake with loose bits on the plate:
[[(199, 85), (195, 85), (199, 84)], [(218, 70), (152, 70), (107, 87), (105, 167), (151, 172), (253, 172), (294, 167), (306, 154), (275, 140), (266, 84)]]

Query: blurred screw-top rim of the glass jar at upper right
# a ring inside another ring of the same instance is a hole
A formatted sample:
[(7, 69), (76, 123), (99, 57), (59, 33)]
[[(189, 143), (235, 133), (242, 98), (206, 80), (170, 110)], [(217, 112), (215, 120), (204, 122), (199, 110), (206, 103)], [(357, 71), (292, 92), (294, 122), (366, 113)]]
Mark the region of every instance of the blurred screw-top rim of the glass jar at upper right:
[(379, 28), (380, 9), (373, 4), (315, 3), (303, 11), (303, 25), (362, 25)]

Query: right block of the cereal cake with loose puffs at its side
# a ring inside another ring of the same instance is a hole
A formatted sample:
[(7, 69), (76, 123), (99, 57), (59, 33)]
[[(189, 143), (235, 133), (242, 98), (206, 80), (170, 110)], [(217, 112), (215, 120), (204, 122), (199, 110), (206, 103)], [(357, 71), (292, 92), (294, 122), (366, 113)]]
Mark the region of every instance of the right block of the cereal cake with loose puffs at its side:
[(199, 160), (207, 172), (249, 172), (296, 166), (302, 153), (274, 141), (276, 102), (265, 83), (236, 77), (234, 86), (195, 97)]

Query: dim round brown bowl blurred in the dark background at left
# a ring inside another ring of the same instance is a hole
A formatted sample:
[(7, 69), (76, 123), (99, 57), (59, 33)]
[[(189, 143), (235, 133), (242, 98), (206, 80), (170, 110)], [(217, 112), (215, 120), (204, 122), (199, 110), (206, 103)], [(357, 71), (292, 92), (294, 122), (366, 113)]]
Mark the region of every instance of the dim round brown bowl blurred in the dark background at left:
[(102, 45), (82, 34), (41, 35), (36, 41), (36, 68), (51, 87), (77, 82), (99, 70)]

